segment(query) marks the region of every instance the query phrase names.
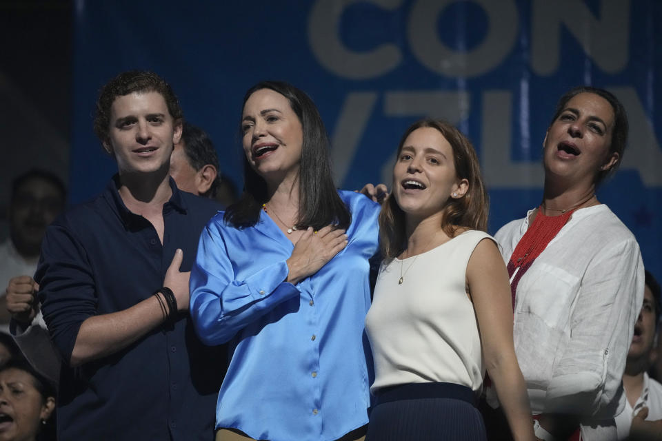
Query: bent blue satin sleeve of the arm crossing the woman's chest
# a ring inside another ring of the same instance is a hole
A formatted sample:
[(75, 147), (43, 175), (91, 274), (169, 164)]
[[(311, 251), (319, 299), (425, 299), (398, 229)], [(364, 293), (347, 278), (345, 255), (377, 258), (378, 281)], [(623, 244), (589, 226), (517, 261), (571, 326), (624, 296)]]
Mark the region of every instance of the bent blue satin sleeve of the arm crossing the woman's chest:
[[(296, 286), (285, 282), (289, 271), (285, 260), (265, 263), (252, 274), (237, 277), (221, 234), (222, 223), (222, 215), (215, 216), (203, 230), (191, 270), (190, 313), (205, 345), (228, 342), (248, 323), (300, 294)], [(250, 252), (257, 255), (260, 249)]]

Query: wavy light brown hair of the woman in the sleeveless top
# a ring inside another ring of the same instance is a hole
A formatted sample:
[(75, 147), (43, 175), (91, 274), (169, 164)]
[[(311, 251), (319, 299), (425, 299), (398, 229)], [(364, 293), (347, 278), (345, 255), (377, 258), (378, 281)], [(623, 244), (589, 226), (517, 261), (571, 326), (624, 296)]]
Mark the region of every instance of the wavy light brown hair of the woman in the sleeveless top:
[[(483, 184), (474, 146), (457, 128), (445, 121), (434, 119), (417, 121), (403, 134), (397, 155), (399, 156), (408, 136), (422, 127), (439, 130), (452, 147), (457, 177), (469, 181), (466, 194), (460, 198), (450, 198), (443, 207), (441, 228), (450, 237), (455, 236), (458, 227), (479, 229), (484, 232), (488, 227), (488, 194)], [(405, 213), (393, 196), (383, 204), (379, 214), (379, 239), (381, 253), (385, 259), (397, 257), (407, 247)]]

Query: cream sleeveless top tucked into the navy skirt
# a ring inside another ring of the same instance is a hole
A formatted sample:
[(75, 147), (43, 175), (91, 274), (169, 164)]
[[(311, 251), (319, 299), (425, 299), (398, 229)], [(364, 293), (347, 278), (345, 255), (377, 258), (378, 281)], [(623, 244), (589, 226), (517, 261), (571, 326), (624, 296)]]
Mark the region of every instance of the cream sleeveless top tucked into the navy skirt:
[(494, 240), (470, 230), (418, 256), (382, 263), (365, 318), (374, 358), (373, 393), (422, 382), (481, 389), (485, 368), (466, 270), (484, 238)]

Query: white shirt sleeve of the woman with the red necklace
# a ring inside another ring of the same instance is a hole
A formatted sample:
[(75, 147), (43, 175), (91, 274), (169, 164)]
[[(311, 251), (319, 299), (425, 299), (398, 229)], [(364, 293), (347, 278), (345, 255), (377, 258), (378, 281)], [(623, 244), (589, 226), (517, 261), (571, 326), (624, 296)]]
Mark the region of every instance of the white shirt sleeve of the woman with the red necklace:
[(603, 249), (590, 263), (570, 316), (568, 346), (554, 362), (546, 411), (614, 416), (643, 280), (634, 238)]

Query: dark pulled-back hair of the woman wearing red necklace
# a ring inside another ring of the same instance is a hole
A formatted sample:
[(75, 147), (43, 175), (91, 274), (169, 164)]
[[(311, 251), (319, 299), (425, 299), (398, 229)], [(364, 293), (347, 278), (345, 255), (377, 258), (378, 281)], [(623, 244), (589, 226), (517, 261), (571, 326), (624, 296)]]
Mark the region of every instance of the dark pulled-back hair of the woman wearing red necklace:
[(577, 86), (576, 88), (572, 88), (568, 90), (568, 92), (565, 92), (565, 94), (561, 96), (559, 102), (556, 103), (556, 110), (554, 110), (554, 117), (550, 122), (550, 127), (552, 127), (554, 121), (556, 121), (556, 119), (559, 118), (559, 115), (561, 115), (561, 113), (565, 109), (565, 105), (568, 104), (568, 101), (570, 101), (574, 96), (583, 93), (601, 96), (603, 99), (608, 101), (608, 103), (610, 103), (610, 105), (612, 106), (612, 110), (614, 111), (614, 127), (612, 127), (612, 144), (609, 146), (609, 152), (610, 154), (618, 153), (619, 158), (618, 160), (616, 160), (616, 163), (614, 163), (614, 165), (612, 165), (612, 167), (609, 170), (601, 170), (600, 172), (598, 172), (598, 174), (595, 177), (595, 185), (597, 187), (602, 181), (605, 180), (605, 178), (607, 178), (611, 174), (614, 174), (614, 172), (616, 172), (616, 169), (619, 168), (619, 165), (621, 165), (621, 162), (623, 161), (623, 153), (625, 152), (625, 145), (628, 144), (628, 130), (629, 130), (628, 114), (627, 112), (625, 112), (625, 107), (623, 107), (621, 101), (619, 101), (619, 99), (616, 98), (616, 96), (614, 96), (612, 92), (608, 92), (607, 90), (600, 88), (593, 88), (589, 85), (580, 85)]

